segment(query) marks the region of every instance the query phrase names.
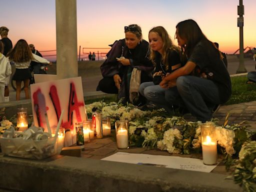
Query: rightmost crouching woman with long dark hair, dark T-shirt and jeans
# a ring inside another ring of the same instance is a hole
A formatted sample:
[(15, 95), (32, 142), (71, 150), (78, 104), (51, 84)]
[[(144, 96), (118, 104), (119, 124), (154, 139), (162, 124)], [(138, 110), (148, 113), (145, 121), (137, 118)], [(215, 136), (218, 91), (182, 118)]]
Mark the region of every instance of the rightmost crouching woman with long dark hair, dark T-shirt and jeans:
[[(231, 95), (231, 81), (221, 53), (192, 19), (176, 25), (176, 38), (187, 61), (160, 82), (161, 87), (168, 88), (165, 99), (170, 104), (184, 104), (202, 122), (210, 120), (212, 109)], [(176, 87), (182, 101), (172, 99), (175, 90), (171, 87)]]

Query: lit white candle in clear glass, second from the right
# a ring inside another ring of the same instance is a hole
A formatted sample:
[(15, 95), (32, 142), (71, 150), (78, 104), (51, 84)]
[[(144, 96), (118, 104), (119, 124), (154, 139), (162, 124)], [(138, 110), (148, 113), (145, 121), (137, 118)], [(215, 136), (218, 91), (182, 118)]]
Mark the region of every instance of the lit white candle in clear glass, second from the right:
[(115, 121), (117, 148), (128, 148), (128, 124), (126, 120)]

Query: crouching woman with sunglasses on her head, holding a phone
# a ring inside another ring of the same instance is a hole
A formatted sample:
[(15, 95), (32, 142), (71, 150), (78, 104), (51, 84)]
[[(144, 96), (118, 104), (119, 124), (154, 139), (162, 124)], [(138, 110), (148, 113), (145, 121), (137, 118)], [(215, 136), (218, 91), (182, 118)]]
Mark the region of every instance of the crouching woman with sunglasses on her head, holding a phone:
[(118, 98), (124, 97), (124, 102), (139, 104), (144, 100), (137, 94), (139, 84), (152, 80), (149, 45), (142, 39), (141, 28), (137, 24), (125, 26), (124, 33), (125, 38), (114, 42), (106, 54), (107, 59), (100, 66), (103, 79), (99, 81), (97, 90), (118, 93)]

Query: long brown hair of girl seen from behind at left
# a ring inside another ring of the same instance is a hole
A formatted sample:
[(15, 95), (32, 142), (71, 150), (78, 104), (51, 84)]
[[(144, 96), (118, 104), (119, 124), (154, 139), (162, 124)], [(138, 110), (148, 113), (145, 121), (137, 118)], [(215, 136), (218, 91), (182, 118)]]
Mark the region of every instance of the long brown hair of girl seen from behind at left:
[(27, 62), (32, 60), (32, 52), (24, 39), (19, 39), (7, 56), (14, 62)]

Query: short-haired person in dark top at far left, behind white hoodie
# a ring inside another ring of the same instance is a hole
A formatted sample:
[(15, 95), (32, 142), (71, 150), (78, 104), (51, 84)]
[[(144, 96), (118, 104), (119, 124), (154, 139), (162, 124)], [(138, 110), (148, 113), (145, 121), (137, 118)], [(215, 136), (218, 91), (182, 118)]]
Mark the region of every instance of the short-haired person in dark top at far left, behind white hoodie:
[[(0, 27), (0, 35), (1, 35), (1, 41), (3, 43), (3, 55), (6, 56), (7, 53), (10, 51), (12, 48), (12, 42), (11, 40), (7, 37), (9, 29), (6, 26), (1, 26)], [(9, 76), (10, 77), (10, 76)], [(6, 78), (6, 83), (4, 87), (4, 102), (9, 101), (9, 77)]]

